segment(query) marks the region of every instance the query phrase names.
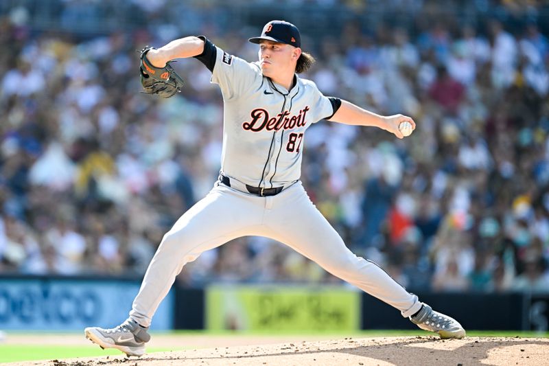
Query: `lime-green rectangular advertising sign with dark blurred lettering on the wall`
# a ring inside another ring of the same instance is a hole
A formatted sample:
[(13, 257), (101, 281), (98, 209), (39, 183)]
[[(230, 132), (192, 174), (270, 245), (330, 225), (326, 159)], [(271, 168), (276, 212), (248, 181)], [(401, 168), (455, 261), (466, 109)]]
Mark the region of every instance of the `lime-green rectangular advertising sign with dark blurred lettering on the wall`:
[(336, 286), (209, 286), (206, 317), (209, 330), (358, 330), (360, 293)]

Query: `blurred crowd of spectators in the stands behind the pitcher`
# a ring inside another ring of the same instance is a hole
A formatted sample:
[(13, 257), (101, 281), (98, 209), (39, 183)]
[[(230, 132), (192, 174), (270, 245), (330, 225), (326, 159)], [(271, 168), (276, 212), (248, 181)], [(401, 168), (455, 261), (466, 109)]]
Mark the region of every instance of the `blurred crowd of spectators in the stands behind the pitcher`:
[[(255, 33), (204, 34), (257, 60)], [(223, 106), (211, 73), (180, 60), (183, 93), (139, 93), (135, 50), (166, 41), (0, 18), (0, 273), (141, 276), (213, 187)], [(307, 130), (303, 184), (355, 253), (410, 290), (549, 292), (549, 41), (535, 22), (513, 33), (495, 18), (417, 32), (349, 22), (304, 50), (317, 62), (302, 77), (325, 95), (417, 123), (404, 140), (326, 121)], [(178, 281), (339, 280), (246, 237)]]

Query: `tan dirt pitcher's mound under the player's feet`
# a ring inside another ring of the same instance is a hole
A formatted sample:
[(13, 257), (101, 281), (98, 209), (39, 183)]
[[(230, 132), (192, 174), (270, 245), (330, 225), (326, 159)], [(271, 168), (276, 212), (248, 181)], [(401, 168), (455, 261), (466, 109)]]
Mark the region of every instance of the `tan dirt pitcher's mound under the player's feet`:
[(434, 336), (301, 341), (5, 365), (547, 365), (549, 339)]

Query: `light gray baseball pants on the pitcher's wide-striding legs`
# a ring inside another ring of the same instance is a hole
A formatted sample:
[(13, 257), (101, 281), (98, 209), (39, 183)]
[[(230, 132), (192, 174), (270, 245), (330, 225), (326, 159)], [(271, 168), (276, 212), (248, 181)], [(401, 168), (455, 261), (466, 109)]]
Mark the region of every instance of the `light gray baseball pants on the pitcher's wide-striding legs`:
[(216, 183), (163, 237), (135, 297), (130, 317), (148, 327), (185, 264), (204, 251), (242, 236), (264, 236), (288, 245), (329, 273), (397, 308), (403, 317), (410, 317), (421, 308), (416, 295), (345, 246), (310, 201), (301, 182), (267, 197)]

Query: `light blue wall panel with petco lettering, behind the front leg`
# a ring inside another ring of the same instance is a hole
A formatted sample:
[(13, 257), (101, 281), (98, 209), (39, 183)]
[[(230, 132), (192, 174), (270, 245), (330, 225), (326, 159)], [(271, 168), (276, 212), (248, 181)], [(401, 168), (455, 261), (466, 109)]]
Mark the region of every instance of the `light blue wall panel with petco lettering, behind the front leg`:
[[(111, 328), (128, 317), (141, 282), (135, 279), (0, 277), (1, 330), (83, 330)], [(174, 326), (174, 295), (168, 294), (154, 328)]]

